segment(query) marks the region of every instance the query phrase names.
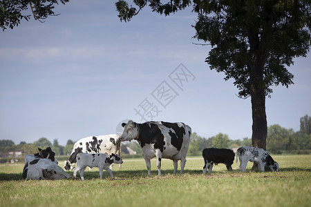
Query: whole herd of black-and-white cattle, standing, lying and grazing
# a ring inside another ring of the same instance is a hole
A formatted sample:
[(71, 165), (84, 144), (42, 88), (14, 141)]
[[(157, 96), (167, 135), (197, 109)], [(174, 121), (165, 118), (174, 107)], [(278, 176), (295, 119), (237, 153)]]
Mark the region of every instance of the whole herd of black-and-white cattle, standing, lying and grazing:
[[(146, 161), (148, 175), (151, 175), (150, 160), (156, 157), (158, 175), (161, 175), (162, 158), (173, 160), (173, 174), (176, 174), (178, 160), (180, 160), (180, 174), (182, 174), (186, 155), (189, 148), (191, 128), (186, 124), (169, 123), (164, 121), (148, 121), (138, 124), (129, 121), (122, 124), (123, 132), (121, 136), (103, 135), (97, 137), (86, 137), (77, 141), (73, 147), (70, 157), (65, 161), (65, 170), (73, 170), (73, 177), (77, 172), (84, 180), (84, 170), (86, 167), (97, 167), (100, 169), (102, 179), (103, 170), (107, 170), (113, 178), (113, 172), (109, 168), (111, 164), (122, 164), (121, 142), (135, 139), (142, 147), (142, 155)], [(58, 166), (55, 159), (55, 152), (48, 147), (44, 150), (40, 148), (35, 155), (26, 155), (23, 168), (23, 179), (68, 179), (68, 175), (63, 168)], [(235, 154), (229, 149), (205, 148), (202, 151), (205, 162), (203, 173), (207, 170), (211, 172), (214, 164), (225, 164), (228, 171), (232, 170)], [(258, 164), (261, 171), (265, 167), (272, 171), (279, 170), (279, 164), (261, 148), (243, 146), (236, 152), (236, 162), (240, 160), (240, 170), (245, 172), (247, 162), (252, 161)], [(77, 167), (75, 167), (77, 163)]]

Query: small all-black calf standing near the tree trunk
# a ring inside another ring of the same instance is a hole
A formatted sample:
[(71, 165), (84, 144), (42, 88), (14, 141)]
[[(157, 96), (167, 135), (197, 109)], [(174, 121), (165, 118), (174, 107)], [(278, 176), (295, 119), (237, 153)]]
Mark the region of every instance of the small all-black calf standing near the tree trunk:
[(234, 163), (234, 157), (236, 155), (232, 150), (223, 148), (205, 148), (202, 151), (202, 157), (204, 159), (205, 166), (203, 167), (203, 173), (213, 168), (213, 165), (220, 163), (225, 164), (228, 171), (232, 171), (232, 164)]

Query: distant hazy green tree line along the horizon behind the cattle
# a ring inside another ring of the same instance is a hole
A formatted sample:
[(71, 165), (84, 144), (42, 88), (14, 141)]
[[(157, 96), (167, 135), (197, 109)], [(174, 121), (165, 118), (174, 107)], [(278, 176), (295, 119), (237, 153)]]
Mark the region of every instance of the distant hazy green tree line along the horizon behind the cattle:
[[(32, 144), (27, 144), (21, 141), (15, 145), (14, 141), (4, 139), (0, 140), (0, 152), (7, 153), (11, 151), (22, 151), (24, 155), (37, 152), (37, 148), (46, 148), (50, 146), (56, 155), (69, 155), (73, 150), (74, 141), (68, 140), (66, 146), (58, 144), (57, 139), (54, 139), (53, 144), (41, 137)], [(132, 141), (129, 144), (122, 145), (122, 151), (126, 151), (126, 146), (136, 151), (138, 155), (142, 154), (142, 148), (137, 141)], [(238, 148), (240, 146), (252, 146), (252, 139), (247, 137), (232, 140), (228, 135), (219, 133), (214, 137), (200, 137), (196, 132), (193, 132), (190, 139), (189, 150), (187, 155), (202, 155), (204, 148)], [(294, 153), (305, 154), (311, 152), (311, 117), (305, 115), (300, 119), (300, 130), (294, 132), (292, 128), (286, 129), (279, 124), (269, 126), (267, 129), (267, 151), (272, 154)]]

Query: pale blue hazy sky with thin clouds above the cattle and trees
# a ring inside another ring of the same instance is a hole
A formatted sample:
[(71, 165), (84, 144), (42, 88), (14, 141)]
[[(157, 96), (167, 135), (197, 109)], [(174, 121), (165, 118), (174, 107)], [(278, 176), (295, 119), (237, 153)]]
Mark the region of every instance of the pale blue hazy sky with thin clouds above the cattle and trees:
[[(70, 1), (57, 17), (0, 34), (0, 139), (65, 146), (120, 132), (129, 119), (184, 122), (209, 138), (252, 137), (250, 98), (209, 70), (210, 46), (194, 39), (191, 8), (161, 16), (144, 8), (120, 21), (115, 1)], [(311, 55), (294, 59), (294, 85), (272, 87), (267, 124), (299, 130), (311, 115)]]

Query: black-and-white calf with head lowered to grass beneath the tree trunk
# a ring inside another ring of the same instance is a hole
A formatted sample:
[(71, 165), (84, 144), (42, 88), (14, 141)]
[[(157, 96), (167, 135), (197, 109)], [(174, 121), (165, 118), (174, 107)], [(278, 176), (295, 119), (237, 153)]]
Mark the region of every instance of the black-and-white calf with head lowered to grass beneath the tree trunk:
[(243, 146), (236, 151), (236, 162), (240, 159), (240, 170), (245, 172), (248, 161), (258, 164), (259, 170), (265, 171), (265, 167), (272, 171), (279, 171), (279, 164), (262, 148)]

